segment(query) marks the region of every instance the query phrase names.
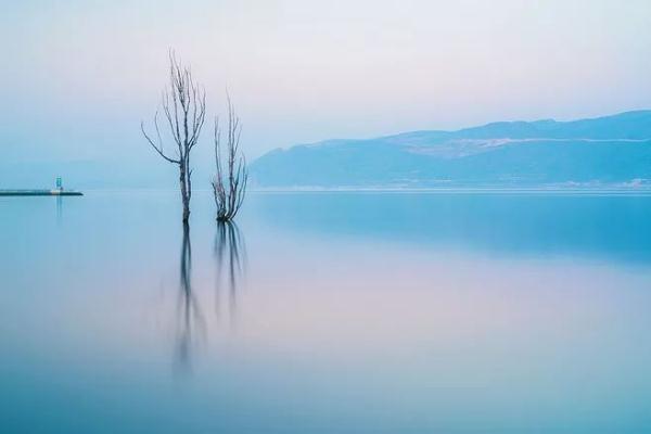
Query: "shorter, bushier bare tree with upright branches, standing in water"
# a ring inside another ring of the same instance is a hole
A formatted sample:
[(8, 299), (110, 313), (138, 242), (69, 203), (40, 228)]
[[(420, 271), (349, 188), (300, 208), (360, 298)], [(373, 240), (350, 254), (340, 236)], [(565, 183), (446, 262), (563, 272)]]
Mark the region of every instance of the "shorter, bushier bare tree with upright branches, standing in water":
[[(219, 119), (215, 119), (215, 166), (217, 174), (213, 180), (213, 193), (217, 205), (217, 220), (231, 221), (246, 194), (248, 170), (246, 158), (240, 151), (242, 125), (235, 114), (230, 97), (228, 97), (228, 130), (226, 135), (226, 152), (221, 152), (221, 131)], [(224, 165), (226, 164), (226, 171)]]

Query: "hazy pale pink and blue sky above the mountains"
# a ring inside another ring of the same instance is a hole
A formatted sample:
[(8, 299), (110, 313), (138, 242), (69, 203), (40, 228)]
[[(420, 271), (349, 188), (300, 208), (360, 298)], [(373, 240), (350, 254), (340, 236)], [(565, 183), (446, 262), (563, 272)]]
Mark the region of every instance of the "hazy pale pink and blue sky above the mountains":
[(23, 0), (4, 2), (0, 44), (5, 162), (151, 161), (139, 123), (169, 47), (210, 115), (228, 86), (251, 156), (651, 107), (649, 0)]

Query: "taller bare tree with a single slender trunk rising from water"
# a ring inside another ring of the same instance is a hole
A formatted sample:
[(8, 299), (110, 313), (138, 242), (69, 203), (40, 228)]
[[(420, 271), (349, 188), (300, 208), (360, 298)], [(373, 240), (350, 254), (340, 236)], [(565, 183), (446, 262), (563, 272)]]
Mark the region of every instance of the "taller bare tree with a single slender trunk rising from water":
[(140, 129), (158, 155), (168, 163), (179, 166), (183, 222), (188, 222), (190, 218), (190, 197), (192, 196), (190, 152), (199, 141), (204, 125), (206, 92), (194, 82), (190, 68), (177, 60), (173, 50), (169, 50), (169, 87), (163, 91), (161, 106), (167, 119), (171, 139), (176, 144), (176, 152), (169, 154), (164, 150), (164, 141), (158, 128), (158, 111), (154, 115), (156, 137), (152, 139), (146, 133), (144, 123), (140, 123)]

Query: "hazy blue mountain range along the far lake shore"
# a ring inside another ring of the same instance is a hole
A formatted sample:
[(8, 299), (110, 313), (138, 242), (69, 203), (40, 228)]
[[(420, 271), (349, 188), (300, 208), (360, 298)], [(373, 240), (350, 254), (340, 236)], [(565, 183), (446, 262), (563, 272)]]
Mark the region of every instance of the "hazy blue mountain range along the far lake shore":
[(651, 186), (651, 111), (327, 140), (251, 165), (261, 188)]

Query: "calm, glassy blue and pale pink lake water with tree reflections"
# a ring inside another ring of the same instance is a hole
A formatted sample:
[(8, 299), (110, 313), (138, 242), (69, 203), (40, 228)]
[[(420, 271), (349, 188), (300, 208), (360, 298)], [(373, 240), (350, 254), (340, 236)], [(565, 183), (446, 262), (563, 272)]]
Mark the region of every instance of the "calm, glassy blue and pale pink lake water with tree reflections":
[(651, 196), (179, 202), (0, 197), (0, 432), (651, 432)]

